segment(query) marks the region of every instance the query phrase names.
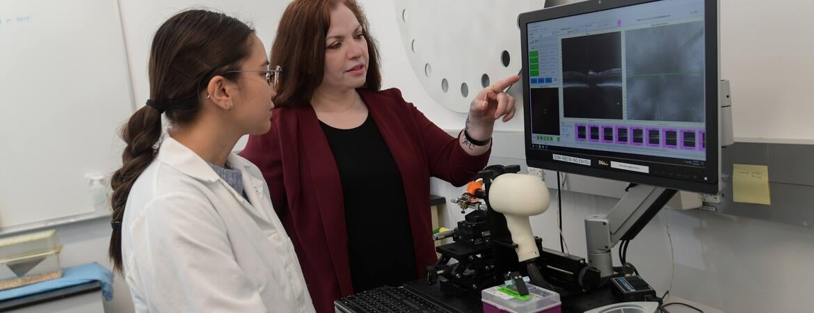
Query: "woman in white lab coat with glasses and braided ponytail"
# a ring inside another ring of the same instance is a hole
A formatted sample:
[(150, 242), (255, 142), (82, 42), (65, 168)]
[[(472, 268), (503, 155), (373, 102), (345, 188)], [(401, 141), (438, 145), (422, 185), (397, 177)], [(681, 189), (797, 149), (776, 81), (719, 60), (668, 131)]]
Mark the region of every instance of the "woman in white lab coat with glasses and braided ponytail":
[(109, 254), (137, 312), (313, 311), (265, 180), (231, 153), (271, 127), (280, 72), (221, 13), (185, 11), (155, 33), (151, 98), (122, 129), (112, 177)]

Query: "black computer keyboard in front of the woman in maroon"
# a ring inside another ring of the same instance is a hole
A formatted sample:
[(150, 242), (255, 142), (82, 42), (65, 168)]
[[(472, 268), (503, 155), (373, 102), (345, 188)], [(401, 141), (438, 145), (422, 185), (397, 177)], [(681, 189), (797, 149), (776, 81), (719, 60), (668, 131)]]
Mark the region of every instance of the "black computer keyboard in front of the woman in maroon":
[(444, 308), (410, 293), (403, 287), (379, 287), (352, 294), (334, 302), (339, 312), (449, 313)]

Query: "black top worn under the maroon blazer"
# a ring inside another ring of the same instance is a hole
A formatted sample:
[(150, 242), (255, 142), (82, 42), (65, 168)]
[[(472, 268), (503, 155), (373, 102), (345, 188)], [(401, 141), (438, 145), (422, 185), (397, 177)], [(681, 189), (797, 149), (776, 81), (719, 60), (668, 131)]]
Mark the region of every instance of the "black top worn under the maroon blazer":
[(417, 279), (401, 173), (373, 118), (351, 129), (320, 126), (342, 182), (354, 291)]

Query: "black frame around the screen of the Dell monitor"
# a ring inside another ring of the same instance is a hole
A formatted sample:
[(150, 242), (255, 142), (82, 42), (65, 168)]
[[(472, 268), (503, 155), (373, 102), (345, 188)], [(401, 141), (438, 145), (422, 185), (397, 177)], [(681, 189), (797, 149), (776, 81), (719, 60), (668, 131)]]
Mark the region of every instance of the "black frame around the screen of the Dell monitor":
[[(523, 58), (523, 118), (524, 118), (524, 140), (526, 150), (526, 162), (529, 167), (539, 167), (558, 172), (575, 173), (586, 176), (595, 176), (606, 178), (610, 180), (622, 180), (637, 184), (661, 186), (670, 189), (679, 189), (686, 191), (694, 191), (700, 193), (719, 193), (720, 192), (720, 104), (719, 104), (719, 82), (720, 82), (720, 44), (719, 44), (719, 7), (718, 0), (704, 0), (704, 45), (705, 45), (705, 94), (706, 103), (706, 133), (707, 133), (707, 149), (706, 149), (706, 166), (703, 167), (703, 176), (707, 177), (707, 181), (702, 180), (685, 180), (670, 178), (664, 176), (654, 176), (639, 172), (627, 172), (621, 170), (611, 169), (610, 167), (599, 167), (596, 158), (591, 159), (590, 166), (565, 163), (554, 161), (551, 150), (539, 150), (532, 148), (532, 124), (531, 124), (531, 110), (529, 110), (530, 103), (527, 98), (531, 94), (529, 72), (526, 70), (528, 65), (528, 39), (527, 39), (527, 24), (536, 23), (544, 20), (554, 20), (572, 15), (582, 15), (595, 11), (606, 11), (619, 7), (628, 7), (648, 2), (659, 2), (664, 0), (587, 0), (582, 2), (575, 2), (558, 7), (550, 7), (539, 11), (531, 11), (522, 13), (518, 16), (518, 25), (520, 28), (521, 36), (521, 50)], [(710, 136), (710, 134), (714, 134)], [(576, 156), (570, 152), (560, 152), (557, 154)], [(602, 156), (597, 154), (589, 154), (593, 157)], [(636, 156), (637, 154), (630, 154)], [(615, 160), (617, 158), (610, 158)], [(632, 158), (635, 159), (635, 158)], [(647, 163), (654, 163), (653, 161), (646, 161), (639, 159), (642, 165)], [(680, 165), (672, 165), (676, 169), (681, 168)], [(679, 171), (676, 171), (679, 173)]]

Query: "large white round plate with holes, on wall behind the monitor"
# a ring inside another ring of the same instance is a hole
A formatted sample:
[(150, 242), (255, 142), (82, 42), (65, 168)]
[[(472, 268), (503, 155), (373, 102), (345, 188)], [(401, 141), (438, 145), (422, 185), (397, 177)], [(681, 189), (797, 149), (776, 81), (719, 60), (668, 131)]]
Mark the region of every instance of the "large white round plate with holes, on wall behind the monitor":
[(517, 16), (540, 10), (544, 1), (394, 2), (401, 40), (418, 80), (436, 102), (464, 113), (481, 89), (520, 72)]

